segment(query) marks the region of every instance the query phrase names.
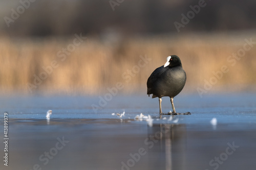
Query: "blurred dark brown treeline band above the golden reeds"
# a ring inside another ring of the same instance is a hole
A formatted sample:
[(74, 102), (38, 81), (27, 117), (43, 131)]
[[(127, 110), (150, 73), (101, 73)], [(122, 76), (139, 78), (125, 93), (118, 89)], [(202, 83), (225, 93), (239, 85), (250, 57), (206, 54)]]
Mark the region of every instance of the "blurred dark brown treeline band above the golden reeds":
[[(28, 0), (21, 0), (28, 1)], [(11, 5), (10, 5), (10, 2)], [(187, 14), (199, 0), (124, 0), (113, 8), (109, 0), (44, 0), (30, 4), (18, 19), (0, 22), (0, 32), (9, 36), (144, 35), (178, 33), (175, 21)], [(9, 4), (8, 4), (9, 3)], [(226, 32), (256, 28), (256, 1), (206, 0), (181, 33), (193, 31)], [(8, 5), (6, 5), (8, 4)], [(5, 6), (6, 5), (6, 6)], [(1, 2), (1, 17), (11, 18), (17, 0)]]

